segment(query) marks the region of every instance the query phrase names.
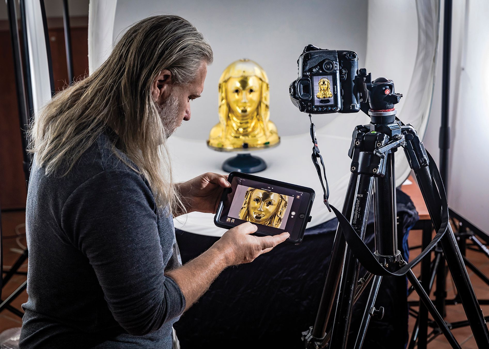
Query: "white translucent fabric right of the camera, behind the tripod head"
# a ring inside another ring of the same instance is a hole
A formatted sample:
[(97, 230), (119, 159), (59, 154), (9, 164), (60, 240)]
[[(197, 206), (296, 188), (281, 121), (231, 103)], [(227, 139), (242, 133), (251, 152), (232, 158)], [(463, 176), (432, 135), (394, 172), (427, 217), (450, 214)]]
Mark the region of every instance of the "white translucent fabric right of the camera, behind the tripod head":
[[(412, 124), (422, 138), (435, 83), (439, 37), (438, 0), (370, 0), (366, 68), (372, 78), (394, 81), (402, 93), (397, 116)], [(435, 117), (439, 117), (436, 115)], [(402, 151), (396, 153), (396, 185), (411, 169)]]

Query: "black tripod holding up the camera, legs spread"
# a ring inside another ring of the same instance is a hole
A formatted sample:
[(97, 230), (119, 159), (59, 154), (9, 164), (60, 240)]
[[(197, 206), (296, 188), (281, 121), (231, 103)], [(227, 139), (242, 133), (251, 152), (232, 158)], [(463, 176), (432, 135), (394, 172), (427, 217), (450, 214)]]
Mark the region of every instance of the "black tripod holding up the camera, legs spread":
[[(477, 302), (464, 265), (463, 256), (448, 222), (448, 206), (443, 183), (431, 156), (411, 125), (404, 125), (396, 118), (394, 104), (402, 95), (394, 93), (391, 80), (379, 78), (373, 83), (370, 74), (360, 69), (359, 77), (366, 82), (369, 105), (362, 102), (371, 123), (357, 126), (349, 156), (352, 159), (350, 183), (340, 213), (333, 206), (339, 224), (333, 242), (333, 254), (328, 268), (326, 283), (314, 326), (303, 333), (306, 348), (344, 349), (362, 347), (365, 333), (372, 316), (381, 317), (383, 308), (375, 302), (383, 276), (407, 276), (422, 303), (452, 348), (460, 348), (439, 311), (429, 299), (426, 289), (416, 278), (411, 267), (419, 262), (438, 242), (451, 271), (458, 295), (467, 314), (468, 323), (480, 348), (489, 348), (489, 332), (481, 308)], [(365, 94), (363, 95), (365, 101)], [(313, 124), (311, 124), (313, 130)], [(313, 161), (320, 175), (314, 156), (320, 157), (317, 141), (314, 142)], [(435, 238), (413, 261), (403, 261), (398, 250), (397, 213), (394, 155), (403, 147), (411, 169), (414, 171), (422, 196), (438, 231)], [(321, 179), (322, 182), (322, 179)], [(372, 196), (375, 212), (375, 253), (363, 242), (367, 215)], [(325, 203), (327, 199), (325, 191)], [(359, 264), (367, 274), (358, 278)], [(363, 313), (355, 342), (350, 340), (350, 323), (353, 304), (372, 281), (370, 295)]]

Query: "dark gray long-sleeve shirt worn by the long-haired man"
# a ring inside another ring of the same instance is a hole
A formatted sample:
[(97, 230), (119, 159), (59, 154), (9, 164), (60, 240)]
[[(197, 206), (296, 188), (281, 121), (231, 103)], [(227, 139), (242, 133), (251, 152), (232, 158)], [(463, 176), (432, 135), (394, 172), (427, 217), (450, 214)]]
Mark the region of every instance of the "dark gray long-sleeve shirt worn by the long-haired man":
[[(171, 348), (185, 308), (172, 217), (99, 136), (66, 176), (32, 167), (20, 348)], [(124, 154), (120, 153), (121, 156)]]

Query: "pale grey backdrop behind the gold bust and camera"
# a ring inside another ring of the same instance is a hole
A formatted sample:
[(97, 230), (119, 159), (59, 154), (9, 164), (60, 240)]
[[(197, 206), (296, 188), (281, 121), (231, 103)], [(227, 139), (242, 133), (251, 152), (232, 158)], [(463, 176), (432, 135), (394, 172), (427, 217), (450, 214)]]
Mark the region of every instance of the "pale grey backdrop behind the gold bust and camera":
[[(132, 23), (154, 15), (173, 13), (192, 22), (214, 50), (202, 97), (192, 102), (192, 120), (177, 135), (208, 138), (218, 120), (218, 81), (224, 68), (249, 58), (267, 72), (270, 83), (270, 120), (279, 135), (308, 131), (307, 115), (289, 98), (289, 84), (297, 78), (297, 58), (306, 44), (351, 49), (364, 65), (367, 39), (367, 1), (161, 1), (118, 0), (114, 38)], [(232, 44), (229, 44), (232, 43)], [(318, 127), (337, 117), (317, 117)], [(300, 126), (298, 126), (298, 123)], [(204, 144), (204, 143), (203, 143)]]

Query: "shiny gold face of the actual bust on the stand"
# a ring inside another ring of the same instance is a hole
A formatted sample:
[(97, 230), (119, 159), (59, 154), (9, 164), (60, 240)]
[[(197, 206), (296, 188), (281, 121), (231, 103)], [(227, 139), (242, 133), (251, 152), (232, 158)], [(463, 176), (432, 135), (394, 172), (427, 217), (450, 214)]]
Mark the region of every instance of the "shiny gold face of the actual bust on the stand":
[(237, 117), (247, 118), (260, 103), (261, 81), (256, 76), (230, 78), (226, 83), (229, 108)]

